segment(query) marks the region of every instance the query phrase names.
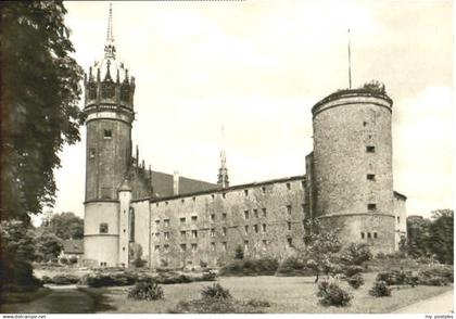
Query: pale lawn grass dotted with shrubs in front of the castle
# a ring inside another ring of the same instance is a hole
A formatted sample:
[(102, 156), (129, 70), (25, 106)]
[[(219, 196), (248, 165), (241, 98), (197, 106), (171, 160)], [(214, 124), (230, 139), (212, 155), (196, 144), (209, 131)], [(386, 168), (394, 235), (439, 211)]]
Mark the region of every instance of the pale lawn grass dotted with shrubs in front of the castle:
[[(439, 295), (445, 291), (453, 290), (448, 286), (401, 286), (393, 288), (391, 297), (376, 298), (368, 294), (373, 284), (377, 273), (365, 273), (365, 284), (358, 290), (342, 282), (341, 286), (350, 291), (354, 298), (349, 307), (324, 307), (318, 304), (316, 297), (317, 285), (314, 277), (226, 277), (218, 278), (218, 282), (231, 292), (237, 299), (257, 298), (268, 301), (270, 307), (265, 312), (303, 312), (303, 314), (384, 314), (405, 307), (416, 302)], [(154, 302), (140, 302), (127, 299), (130, 288), (110, 288), (105, 290), (104, 303), (115, 309), (100, 312), (167, 312), (176, 307), (180, 301), (189, 302), (201, 296), (201, 289), (210, 285), (210, 282), (192, 282), (187, 284), (162, 285), (165, 298)], [(90, 289), (89, 289), (90, 290)]]

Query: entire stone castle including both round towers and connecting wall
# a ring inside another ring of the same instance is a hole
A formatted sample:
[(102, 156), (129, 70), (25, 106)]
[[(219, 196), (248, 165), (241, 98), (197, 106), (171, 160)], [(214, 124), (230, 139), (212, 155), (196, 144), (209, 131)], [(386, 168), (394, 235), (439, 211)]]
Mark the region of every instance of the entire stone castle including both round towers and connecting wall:
[(217, 183), (145, 168), (138, 149), (132, 154), (135, 78), (116, 59), (111, 9), (104, 56), (84, 86), (88, 266), (216, 267), (239, 247), (253, 258), (284, 258), (305, 247), (312, 219), (375, 253), (397, 250), (406, 235), (384, 89), (340, 90), (314, 105), (305, 176), (229, 186), (224, 151)]

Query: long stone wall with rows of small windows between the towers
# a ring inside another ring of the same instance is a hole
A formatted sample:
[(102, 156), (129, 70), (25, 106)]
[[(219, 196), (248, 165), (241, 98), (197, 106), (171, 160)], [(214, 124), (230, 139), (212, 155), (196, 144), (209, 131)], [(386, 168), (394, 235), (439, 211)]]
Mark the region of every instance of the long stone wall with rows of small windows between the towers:
[(151, 202), (153, 268), (283, 258), (303, 247), (304, 177)]

